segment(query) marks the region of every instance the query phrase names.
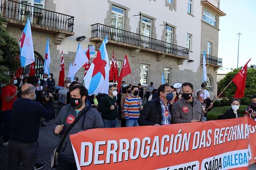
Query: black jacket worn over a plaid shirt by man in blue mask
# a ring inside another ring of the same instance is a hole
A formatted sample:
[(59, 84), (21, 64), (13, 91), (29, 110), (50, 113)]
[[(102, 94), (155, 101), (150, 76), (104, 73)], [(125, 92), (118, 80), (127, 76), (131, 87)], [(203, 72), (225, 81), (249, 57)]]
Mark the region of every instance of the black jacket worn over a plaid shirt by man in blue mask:
[[(169, 110), (172, 110), (172, 105), (169, 106)], [(160, 105), (159, 97), (146, 102), (142, 112), (139, 115), (139, 126), (149, 126), (159, 124), (162, 121), (162, 108)]]

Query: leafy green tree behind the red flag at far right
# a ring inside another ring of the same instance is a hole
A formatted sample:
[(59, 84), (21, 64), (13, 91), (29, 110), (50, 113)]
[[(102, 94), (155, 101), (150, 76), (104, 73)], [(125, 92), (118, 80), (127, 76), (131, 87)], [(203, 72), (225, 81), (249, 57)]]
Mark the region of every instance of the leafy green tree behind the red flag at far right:
[[(241, 67), (242, 68), (242, 67)], [(226, 74), (226, 76), (219, 81), (218, 91), (221, 92), (228, 83), (237, 75), (241, 68), (234, 69), (232, 72)], [(241, 98), (241, 103), (244, 105), (248, 105), (251, 103), (252, 95), (256, 94), (256, 69), (248, 68), (245, 82), (245, 94), (244, 97)], [(236, 85), (231, 83), (228, 88), (225, 90), (224, 95), (227, 96), (229, 100), (231, 100), (236, 93)]]

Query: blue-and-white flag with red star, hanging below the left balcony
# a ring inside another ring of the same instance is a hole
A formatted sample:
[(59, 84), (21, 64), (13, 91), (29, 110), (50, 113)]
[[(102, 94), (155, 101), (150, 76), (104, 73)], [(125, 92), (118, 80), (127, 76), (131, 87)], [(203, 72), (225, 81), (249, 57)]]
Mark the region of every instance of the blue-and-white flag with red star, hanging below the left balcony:
[(20, 66), (25, 67), (35, 62), (34, 47), (29, 17), (20, 38)]

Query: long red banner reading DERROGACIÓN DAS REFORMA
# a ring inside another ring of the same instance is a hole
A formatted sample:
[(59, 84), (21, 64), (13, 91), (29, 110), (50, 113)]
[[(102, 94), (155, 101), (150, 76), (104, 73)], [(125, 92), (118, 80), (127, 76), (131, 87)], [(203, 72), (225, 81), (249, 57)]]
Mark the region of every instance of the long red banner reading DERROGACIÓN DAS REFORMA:
[(248, 117), (70, 135), (78, 170), (248, 169), (256, 162), (256, 121)]

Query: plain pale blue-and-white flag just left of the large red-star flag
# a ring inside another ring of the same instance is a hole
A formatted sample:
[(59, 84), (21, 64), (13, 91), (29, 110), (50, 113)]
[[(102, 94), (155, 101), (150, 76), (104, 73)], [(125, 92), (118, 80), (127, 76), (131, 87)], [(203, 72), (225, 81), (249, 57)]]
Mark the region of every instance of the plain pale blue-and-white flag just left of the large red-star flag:
[(74, 81), (74, 76), (75, 76), (76, 72), (88, 61), (89, 61), (88, 57), (85, 55), (81, 44), (78, 43), (76, 55), (75, 55), (75, 61), (73, 63), (72, 70), (71, 70), (71, 77), (70, 77), (71, 82)]

